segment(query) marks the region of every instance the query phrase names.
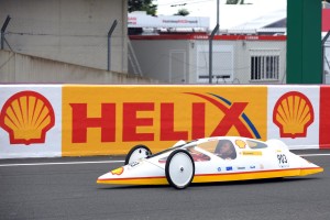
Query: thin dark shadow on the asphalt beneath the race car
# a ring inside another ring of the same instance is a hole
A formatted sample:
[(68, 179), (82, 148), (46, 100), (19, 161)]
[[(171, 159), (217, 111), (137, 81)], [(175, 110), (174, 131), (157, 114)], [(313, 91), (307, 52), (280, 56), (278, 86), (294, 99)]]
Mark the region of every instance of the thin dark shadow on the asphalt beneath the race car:
[[(206, 187), (206, 186), (245, 186), (245, 185), (262, 185), (262, 184), (283, 184), (294, 182), (316, 180), (318, 177), (279, 177), (270, 179), (251, 179), (237, 182), (217, 182), (217, 183), (193, 183), (188, 187)], [(100, 186), (98, 190), (116, 190), (116, 189), (146, 189), (146, 188), (169, 188), (168, 185), (109, 185)], [(172, 187), (170, 187), (172, 188)]]

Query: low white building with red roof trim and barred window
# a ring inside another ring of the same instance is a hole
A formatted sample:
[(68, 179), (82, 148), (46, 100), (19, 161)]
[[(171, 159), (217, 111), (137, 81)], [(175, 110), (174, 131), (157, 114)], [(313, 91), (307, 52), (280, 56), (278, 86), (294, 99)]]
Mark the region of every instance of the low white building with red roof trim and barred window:
[[(170, 84), (209, 82), (207, 34), (130, 38), (143, 76)], [(286, 82), (286, 36), (216, 35), (212, 45), (213, 84)]]

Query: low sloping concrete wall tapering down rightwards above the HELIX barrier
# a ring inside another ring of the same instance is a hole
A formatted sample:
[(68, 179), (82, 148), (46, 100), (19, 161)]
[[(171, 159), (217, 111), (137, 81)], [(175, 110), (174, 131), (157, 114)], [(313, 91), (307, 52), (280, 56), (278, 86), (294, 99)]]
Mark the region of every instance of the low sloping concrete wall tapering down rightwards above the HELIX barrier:
[(108, 85), (157, 84), (157, 80), (0, 51), (0, 82)]

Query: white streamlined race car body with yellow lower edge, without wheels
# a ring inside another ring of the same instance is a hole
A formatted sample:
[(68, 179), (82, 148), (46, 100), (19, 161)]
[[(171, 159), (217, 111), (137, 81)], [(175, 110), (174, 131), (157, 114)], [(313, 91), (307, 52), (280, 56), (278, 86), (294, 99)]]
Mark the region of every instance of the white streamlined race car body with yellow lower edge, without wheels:
[[(219, 145), (224, 142), (230, 142), (233, 147), (231, 157), (218, 154)], [(132, 162), (100, 176), (97, 183), (168, 185), (166, 161), (178, 148), (187, 151), (194, 160), (193, 183), (306, 176), (323, 170), (289, 152), (278, 140), (262, 142), (239, 136), (216, 136), (173, 146), (147, 158)]]

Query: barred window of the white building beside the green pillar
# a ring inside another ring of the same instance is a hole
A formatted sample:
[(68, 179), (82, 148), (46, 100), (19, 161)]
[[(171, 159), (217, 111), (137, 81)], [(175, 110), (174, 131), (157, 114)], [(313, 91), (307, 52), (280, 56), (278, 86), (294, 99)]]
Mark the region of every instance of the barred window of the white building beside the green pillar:
[(251, 56), (251, 80), (278, 79), (279, 55)]

